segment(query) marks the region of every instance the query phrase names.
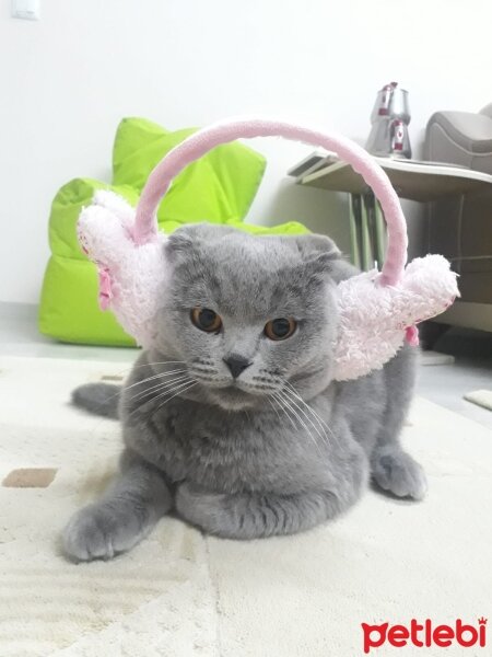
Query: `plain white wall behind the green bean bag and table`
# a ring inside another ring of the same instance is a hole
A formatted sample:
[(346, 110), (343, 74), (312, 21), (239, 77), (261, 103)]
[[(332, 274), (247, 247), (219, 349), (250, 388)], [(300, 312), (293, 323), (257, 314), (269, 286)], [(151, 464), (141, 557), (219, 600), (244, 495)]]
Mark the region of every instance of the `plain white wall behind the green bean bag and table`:
[[(437, 108), (492, 100), (490, 0), (0, 0), (0, 300), (35, 302), (58, 187), (108, 177), (122, 116), (168, 128), (234, 114), (313, 120), (365, 140), (376, 90), (410, 91), (413, 146)], [(307, 150), (254, 145), (269, 171), (249, 220), (300, 219), (348, 247), (342, 197), (292, 187)]]

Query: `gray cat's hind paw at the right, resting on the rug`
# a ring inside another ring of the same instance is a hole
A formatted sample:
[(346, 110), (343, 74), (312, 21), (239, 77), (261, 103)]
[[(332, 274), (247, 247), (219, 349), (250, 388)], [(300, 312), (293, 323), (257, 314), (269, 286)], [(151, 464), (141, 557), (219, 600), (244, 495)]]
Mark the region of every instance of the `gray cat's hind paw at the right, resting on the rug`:
[(401, 449), (377, 456), (373, 460), (373, 477), (380, 488), (397, 497), (422, 499), (427, 492), (422, 466)]

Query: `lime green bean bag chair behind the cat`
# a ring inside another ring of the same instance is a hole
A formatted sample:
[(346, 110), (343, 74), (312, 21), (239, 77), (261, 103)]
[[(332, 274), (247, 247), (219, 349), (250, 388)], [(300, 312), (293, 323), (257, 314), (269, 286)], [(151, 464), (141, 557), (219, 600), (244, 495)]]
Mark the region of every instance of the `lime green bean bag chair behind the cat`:
[[(131, 205), (152, 169), (167, 151), (194, 130), (169, 132), (144, 118), (125, 118), (113, 149), (113, 183), (75, 178), (56, 195), (49, 218), (51, 257), (45, 273), (39, 306), (39, 330), (69, 343), (134, 346), (110, 312), (97, 303), (97, 272), (80, 249), (77, 220), (97, 189), (113, 189)], [(298, 234), (301, 223), (274, 228), (243, 222), (265, 172), (265, 159), (238, 142), (215, 148), (187, 166), (174, 181), (157, 214), (166, 233), (184, 223), (224, 223), (253, 233)]]

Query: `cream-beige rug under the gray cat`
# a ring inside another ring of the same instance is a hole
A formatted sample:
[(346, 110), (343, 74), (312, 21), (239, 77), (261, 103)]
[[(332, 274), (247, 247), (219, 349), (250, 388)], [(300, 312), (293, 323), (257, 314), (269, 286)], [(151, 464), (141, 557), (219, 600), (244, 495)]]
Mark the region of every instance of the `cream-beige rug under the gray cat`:
[[(492, 433), (417, 400), (421, 504), (370, 492), (290, 538), (203, 538), (166, 518), (136, 550), (74, 566), (58, 535), (114, 471), (118, 426), (68, 404), (117, 364), (0, 359), (0, 656), (354, 657), (361, 623), (492, 623)], [(30, 485), (36, 487), (28, 487)], [(482, 655), (395, 648), (371, 654)]]

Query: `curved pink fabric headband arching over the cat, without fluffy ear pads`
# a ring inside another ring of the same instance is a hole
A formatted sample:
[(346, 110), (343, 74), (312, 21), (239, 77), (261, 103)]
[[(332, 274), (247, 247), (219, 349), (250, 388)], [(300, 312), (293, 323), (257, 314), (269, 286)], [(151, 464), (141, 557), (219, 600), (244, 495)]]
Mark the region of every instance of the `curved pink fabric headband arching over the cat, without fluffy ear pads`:
[(199, 130), (169, 151), (150, 174), (140, 197), (133, 229), (136, 243), (145, 244), (156, 239), (155, 212), (159, 204), (169, 188), (172, 180), (187, 164), (221, 143), (253, 137), (284, 137), (323, 147), (336, 152), (362, 175), (380, 203), (388, 228), (388, 246), (379, 283), (397, 285), (407, 262), (407, 223), (398, 196), (386, 173), (362, 147), (350, 139), (278, 120), (244, 119), (215, 124)]

